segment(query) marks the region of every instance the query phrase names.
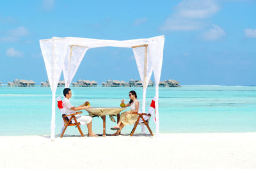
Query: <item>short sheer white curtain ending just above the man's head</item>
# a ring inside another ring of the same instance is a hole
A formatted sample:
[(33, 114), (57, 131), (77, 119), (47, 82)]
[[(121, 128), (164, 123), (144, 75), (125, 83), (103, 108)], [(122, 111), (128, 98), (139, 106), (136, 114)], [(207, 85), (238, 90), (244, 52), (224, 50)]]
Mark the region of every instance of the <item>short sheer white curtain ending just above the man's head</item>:
[(63, 64), (63, 75), (65, 80), (65, 87), (69, 87), (72, 79), (76, 75), (76, 71), (83, 60), (83, 57), (88, 50), (88, 47), (69, 45), (65, 62)]

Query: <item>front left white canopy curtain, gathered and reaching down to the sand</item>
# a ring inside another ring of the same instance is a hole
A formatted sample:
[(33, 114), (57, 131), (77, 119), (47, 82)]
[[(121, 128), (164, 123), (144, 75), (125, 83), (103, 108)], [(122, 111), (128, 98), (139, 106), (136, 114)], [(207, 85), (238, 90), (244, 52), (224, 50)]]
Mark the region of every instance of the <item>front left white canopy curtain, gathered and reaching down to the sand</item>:
[(58, 82), (60, 80), (64, 57), (67, 51), (67, 40), (52, 39), (51, 41), (40, 41), (42, 55), (44, 57), (45, 69), (52, 91), (52, 119), (51, 140), (55, 136), (55, 96)]

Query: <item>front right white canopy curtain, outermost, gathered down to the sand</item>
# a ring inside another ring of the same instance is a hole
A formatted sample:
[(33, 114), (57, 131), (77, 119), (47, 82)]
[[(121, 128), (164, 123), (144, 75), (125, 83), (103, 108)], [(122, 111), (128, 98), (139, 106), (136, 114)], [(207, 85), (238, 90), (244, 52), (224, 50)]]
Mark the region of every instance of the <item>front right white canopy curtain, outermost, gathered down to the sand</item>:
[(158, 100), (159, 100), (159, 82), (161, 77), (161, 70), (163, 64), (163, 50), (164, 50), (164, 36), (157, 36), (148, 41), (148, 50), (152, 55), (154, 78), (156, 84), (156, 135), (159, 133), (159, 111), (158, 111)]

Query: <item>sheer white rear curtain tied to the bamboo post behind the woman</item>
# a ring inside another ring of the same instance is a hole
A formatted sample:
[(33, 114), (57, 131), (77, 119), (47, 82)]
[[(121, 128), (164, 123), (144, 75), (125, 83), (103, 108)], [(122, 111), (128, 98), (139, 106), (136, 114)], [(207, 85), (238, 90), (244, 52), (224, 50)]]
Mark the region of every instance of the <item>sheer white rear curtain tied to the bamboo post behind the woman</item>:
[[(145, 105), (146, 105), (146, 91), (148, 87), (148, 82), (151, 78), (152, 71), (153, 71), (153, 65), (152, 65), (152, 57), (150, 54), (148, 54), (148, 47), (134, 47), (132, 48), (133, 54), (136, 60), (136, 64), (138, 67), (138, 71), (140, 73), (140, 79), (143, 85), (143, 99), (142, 99), (142, 112), (145, 113)], [(147, 57), (145, 59), (145, 57)], [(145, 64), (146, 62), (146, 64)], [(146, 73), (145, 73), (145, 66)]]

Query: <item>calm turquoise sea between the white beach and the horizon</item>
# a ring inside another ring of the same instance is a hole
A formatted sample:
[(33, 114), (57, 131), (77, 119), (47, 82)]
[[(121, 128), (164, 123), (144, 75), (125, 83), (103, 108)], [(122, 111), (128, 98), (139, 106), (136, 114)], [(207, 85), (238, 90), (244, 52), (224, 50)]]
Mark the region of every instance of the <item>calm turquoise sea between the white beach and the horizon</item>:
[[(56, 96), (63, 96), (58, 87)], [(71, 103), (81, 105), (88, 99), (92, 107), (119, 107), (120, 100), (129, 101), (134, 90), (142, 104), (141, 87), (72, 87)], [(155, 88), (147, 89), (147, 105), (155, 96)], [(83, 112), (87, 114), (87, 112)], [(0, 135), (50, 135), (50, 87), (0, 87)], [(106, 133), (115, 125), (106, 117)], [(159, 87), (160, 133), (210, 133), (256, 131), (255, 86), (182, 86)], [(155, 132), (155, 124), (150, 126)], [(133, 126), (125, 127), (129, 133)], [(61, 129), (61, 114), (56, 106), (56, 135)], [(82, 126), (87, 133), (86, 126)], [(93, 118), (93, 131), (102, 134), (102, 119)], [(136, 130), (140, 131), (140, 126)], [(66, 134), (79, 135), (74, 127)]]

